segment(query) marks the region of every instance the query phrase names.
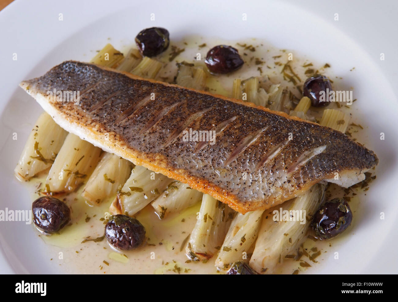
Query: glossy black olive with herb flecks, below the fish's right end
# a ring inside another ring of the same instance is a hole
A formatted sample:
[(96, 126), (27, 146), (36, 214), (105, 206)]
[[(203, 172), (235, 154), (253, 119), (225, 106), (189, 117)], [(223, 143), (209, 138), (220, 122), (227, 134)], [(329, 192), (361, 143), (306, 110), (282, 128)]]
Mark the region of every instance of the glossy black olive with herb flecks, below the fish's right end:
[(352, 221), (352, 212), (344, 198), (335, 198), (320, 206), (312, 220), (312, 228), (320, 240), (336, 237)]

